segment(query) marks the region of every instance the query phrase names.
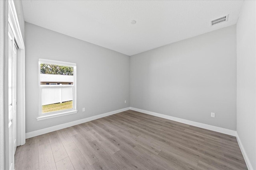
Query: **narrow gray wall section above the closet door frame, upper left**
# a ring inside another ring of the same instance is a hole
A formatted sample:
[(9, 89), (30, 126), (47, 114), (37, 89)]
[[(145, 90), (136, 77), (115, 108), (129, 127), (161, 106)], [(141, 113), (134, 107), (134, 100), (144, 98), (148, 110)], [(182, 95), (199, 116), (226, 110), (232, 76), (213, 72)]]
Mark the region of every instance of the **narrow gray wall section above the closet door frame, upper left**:
[(23, 40), (25, 39), (25, 21), (24, 21), (24, 14), (23, 14), (23, 8), (22, 8), (22, 2), (21, 0), (14, 0), (14, 6), (16, 9), (16, 13), (18, 16), (18, 21), (20, 25), (20, 31), (22, 34)]

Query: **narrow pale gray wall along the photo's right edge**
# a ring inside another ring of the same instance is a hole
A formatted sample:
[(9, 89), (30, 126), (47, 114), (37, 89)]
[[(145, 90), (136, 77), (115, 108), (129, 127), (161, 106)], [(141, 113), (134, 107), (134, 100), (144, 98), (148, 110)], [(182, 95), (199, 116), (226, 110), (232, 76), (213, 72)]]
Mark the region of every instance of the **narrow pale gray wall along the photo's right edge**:
[(237, 29), (237, 133), (256, 170), (256, 2), (244, 1)]

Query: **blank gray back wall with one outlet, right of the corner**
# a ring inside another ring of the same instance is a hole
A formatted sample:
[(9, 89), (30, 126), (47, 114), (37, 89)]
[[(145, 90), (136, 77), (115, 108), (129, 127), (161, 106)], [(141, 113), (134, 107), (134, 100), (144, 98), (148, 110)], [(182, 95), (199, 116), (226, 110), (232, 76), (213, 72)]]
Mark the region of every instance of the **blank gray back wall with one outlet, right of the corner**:
[(236, 130), (236, 25), (131, 56), (130, 100), (138, 109)]

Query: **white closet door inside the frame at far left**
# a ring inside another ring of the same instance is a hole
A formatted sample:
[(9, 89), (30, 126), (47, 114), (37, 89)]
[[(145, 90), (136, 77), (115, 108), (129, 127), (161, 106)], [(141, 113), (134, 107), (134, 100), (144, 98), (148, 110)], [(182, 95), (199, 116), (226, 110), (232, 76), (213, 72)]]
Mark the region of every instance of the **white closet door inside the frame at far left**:
[(14, 154), (17, 148), (17, 121), (16, 121), (16, 69), (17, 47), (14, 34), (9, 25), (8, 29), (8, 128), (9, 128), (9, 169), (14, 170)]

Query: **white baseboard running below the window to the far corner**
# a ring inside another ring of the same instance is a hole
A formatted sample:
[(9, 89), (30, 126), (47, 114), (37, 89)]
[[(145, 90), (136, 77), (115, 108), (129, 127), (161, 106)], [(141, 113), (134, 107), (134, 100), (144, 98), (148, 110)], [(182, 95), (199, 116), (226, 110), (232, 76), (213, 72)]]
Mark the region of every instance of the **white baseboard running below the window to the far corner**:
[(126, 110), (129, 110), (129, 109), (130, 109), (130, 107), (126, 107), (124, 109), (110, 111), (108, 113), (103, 113), (103, 114), (100, 114), (100, 115), (87, 117), (85, 119), (80, 119), (80, 120), (77, 120), (77, 121), (72, 121), (72, 122), (61, 124), (61, 125), (48, 127), (48, 128), (40, 129), (40, 130), (37, 130), (37, 131), (28, 132), (28, 133), (26, 133), (26, 139), (31, 138), (31, 137), (35, 137), (35, 136), (38, 136), (38, 135), (43, 135), (45, 133), (50, 133), (50, 132), (53, 132), (53, 131), (57, 131), (57, 130), (60, 130), (60, 129), (64, 129), (64, 128), (67, 128), (67, 127), (70, 127), (70, 126), (78, 125), (78, 124), (81, 124), (81, 123), (85, 123), (85, 122), (88, 122), (88, 121), (92, 121), (92, 120), (95, 120), (95, 119), (99, 119), (99, 118), (102, 118), (102, 117), (106, 117), (106, 116), (109, 116), (109, 115), (114, 115), (116, 113), (120, 113), (122, 111), (126, 111)]

